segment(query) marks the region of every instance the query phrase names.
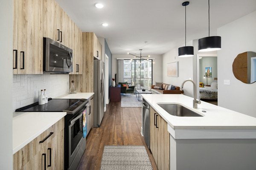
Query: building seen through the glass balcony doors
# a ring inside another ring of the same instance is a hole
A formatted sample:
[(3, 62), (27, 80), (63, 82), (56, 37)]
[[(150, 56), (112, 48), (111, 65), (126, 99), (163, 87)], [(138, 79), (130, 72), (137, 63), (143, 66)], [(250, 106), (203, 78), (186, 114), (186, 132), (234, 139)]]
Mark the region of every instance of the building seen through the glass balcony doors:
[[(150, 59), (152, 61), (152, 59)], [(148, 60), (124, 60), (124, 82), (137, 89), (151, 90), (152, 62)]]

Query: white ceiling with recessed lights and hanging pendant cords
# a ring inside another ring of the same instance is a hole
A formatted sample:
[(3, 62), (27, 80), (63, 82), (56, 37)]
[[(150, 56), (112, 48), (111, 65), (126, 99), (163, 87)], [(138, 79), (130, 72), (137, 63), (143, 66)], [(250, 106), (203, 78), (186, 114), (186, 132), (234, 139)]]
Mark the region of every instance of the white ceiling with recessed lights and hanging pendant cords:
[[(112, 54), (164, 54), (185, 43), (182, 0), (56, 0), (84, 32), (105, 37)], [(190, 0), (187, 42), (208, 36), (208, 0)], [(104, 4), (98, 9), (95, 3)], [(256, 0), (211, 0), (210, 36), (256, 11)], [(108, 23), (103, 27), (102, 23)]]

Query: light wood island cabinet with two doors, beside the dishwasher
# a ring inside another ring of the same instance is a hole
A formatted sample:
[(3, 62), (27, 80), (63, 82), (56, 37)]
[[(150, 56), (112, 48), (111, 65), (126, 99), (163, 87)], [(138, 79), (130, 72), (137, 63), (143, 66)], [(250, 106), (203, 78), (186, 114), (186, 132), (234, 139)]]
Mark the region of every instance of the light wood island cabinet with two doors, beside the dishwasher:
[(150, 150), (159, 170), (170, 167), (170, 137), (167, 122), (153, 109), (150, 109)]

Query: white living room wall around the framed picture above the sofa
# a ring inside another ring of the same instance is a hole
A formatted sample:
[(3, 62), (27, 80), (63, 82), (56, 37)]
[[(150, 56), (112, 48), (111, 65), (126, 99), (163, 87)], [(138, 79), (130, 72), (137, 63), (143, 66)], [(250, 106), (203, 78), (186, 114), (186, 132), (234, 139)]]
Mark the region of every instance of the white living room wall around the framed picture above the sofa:
[[(192, 42), (187, 43), (192, 45)], [(182, 82), (186, 79), (193, 79), (193, 57), (177, 57), (178, 47), (163, 54), (163, 82), (171, 85), (181, 86)], [(167, 63), (178, 62), (178, 77), (167, 76)], [(184, 95), (193, 96), (193, 84), (186, 82), (183, 87)]]

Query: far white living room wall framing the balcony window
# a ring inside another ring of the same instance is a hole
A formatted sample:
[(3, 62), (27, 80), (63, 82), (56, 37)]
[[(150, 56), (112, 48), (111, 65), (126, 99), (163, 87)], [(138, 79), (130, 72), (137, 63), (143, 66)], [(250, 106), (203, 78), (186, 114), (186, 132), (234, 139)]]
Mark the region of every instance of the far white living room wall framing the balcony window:
[[(147, 56), (148, 54), (143, 54), (143, 56)], [(116, 74), (116, 59), (134, 59), (133, 56), (129, 54), (113, 54), (112, 55), (112, 78), (115, 77)], [(161, 55), (150, 55), (149, 59), (153, 59), (153, 85), (155, 82), (162, 82), (162, 56)], [(139, 59), (139, 58), (138, 58)], [(118, 82), (117, 82), (118, 83)]]

